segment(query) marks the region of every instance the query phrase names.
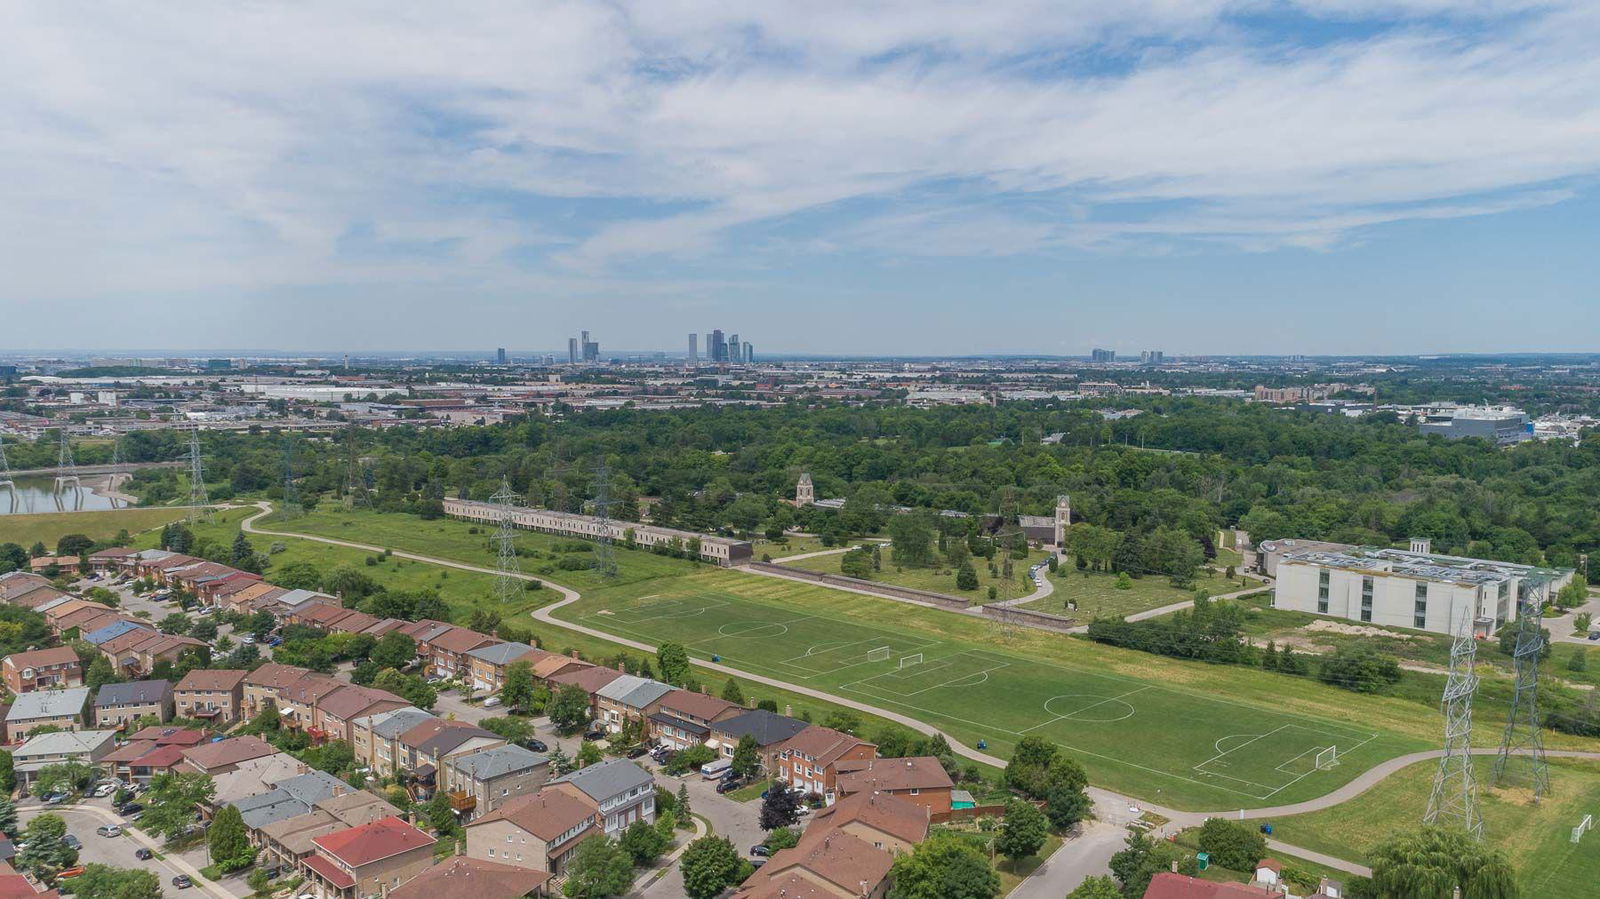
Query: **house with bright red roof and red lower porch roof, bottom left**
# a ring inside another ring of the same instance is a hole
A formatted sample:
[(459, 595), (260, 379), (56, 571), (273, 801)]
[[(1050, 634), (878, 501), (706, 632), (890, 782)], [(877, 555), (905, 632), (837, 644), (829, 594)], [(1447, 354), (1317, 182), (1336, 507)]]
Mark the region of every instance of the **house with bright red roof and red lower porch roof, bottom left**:
[(434, 838), (398, 817), (384, 817), (312, 840), (302, 867), (318, 899), (381, 896), (434, 864)]

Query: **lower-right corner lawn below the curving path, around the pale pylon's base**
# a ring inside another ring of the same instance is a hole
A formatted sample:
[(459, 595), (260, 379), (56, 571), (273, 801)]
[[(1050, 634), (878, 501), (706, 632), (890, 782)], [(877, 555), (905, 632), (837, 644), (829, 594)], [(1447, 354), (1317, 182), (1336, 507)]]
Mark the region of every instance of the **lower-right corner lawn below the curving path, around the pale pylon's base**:
[[(1600, 883), (1600, 835), (1571, 843), (1571, 829), (1582, 816), (1600, 816), (1600, 763), (1576, 758), (1550, 760), (1550, 795), (1531, 805), (1525, 790), (1490, 790), (1493, 758), (1477, 758), (1483, 837), (1506, 849), (1523, 896), (1563, 899), (1594, 896)], [(1368, 851), (1387, 833), (1416, 827), (1427, 809), (1434, 761), (1419, 761), (1360, 797), (1310, 814), (1272, 822), (1274, 837), (1306, 849), (1366, 861)]]

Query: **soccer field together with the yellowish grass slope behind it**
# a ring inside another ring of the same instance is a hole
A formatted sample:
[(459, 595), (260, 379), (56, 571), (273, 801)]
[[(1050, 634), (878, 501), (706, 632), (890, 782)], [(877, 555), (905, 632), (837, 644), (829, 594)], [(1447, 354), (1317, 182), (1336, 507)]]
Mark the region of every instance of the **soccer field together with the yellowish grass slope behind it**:
[[(1179, 808), (1322, 795), (1429, 745), (1437, 729), (1432, 713), (1403, 701), (1043, 632), (1003, 643), (992, 622), (904, 603), (885, 616), (886, 601), (718, 569), (597, 590), (557, 616), (861, 697), (968, 744), (982, 739), (997, 755), (1043, 736), (1083, 760), (1096, 784)], [(1403, 721), (1419, 726), (1397, 733)], [(1347, 765), (1317, 771), (1328, 745)]]

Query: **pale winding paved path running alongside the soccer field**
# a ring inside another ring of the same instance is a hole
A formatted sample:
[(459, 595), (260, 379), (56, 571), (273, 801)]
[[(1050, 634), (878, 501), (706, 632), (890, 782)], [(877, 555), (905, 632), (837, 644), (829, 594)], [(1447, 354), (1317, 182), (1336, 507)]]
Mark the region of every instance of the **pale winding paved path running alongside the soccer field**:
[[(266, 531), (266, 529), (256, 528), (256, 521), (272, 512), (272, 505), (269, 502), (259, 502), (256, 505), (261, 509), (261, 512), (256, 513), (256, 515), (251, 515), (250, 518), (245, 518), (240, 523), (242, 529), (246, 531), (246, 533), (251, 533), (251, 534), (267, 534), (267, 536), (277, 536), (277, 537), (299, 537), (299, 539), (307, 539), (307, 541), (315, 541), (315, 542), (323, 542), (323, 544), (331, 544), (331, 545), (342, 545), (342, 547), (349, 547), (349, 549), (360, 549), (360, 550), (365, 550), (365, 552), (382, 552), (382, 549), (384, 549), (384, 547), (376, 547), (376, 545), (368, 545), (368, 544), (358, 544), (358, 542), (352, 542), (352, 541), (339, 541), (339, 539), (333, 539), (333, 537), (320, 537), (320, 536), (312, 536), (312, 534), (296, 534), (296, 533), (288, 533), (288, 531)], [(494, 574), (496, 573), (493, 568), (485, 568), (485, 566), (480, 566), (480, 565), (467, 565), (467, 563), (453, 561), (453, 560), (448, 560), (448, 558), (435, 558), (435, 557), (429, 557), (429, 555), (418, 555), (418, 553), (400, 552), (400, 550), (392, 550), (392, 552), (394, 552), (394, 555), (398, 555), (402, 558), (410, 558), (410, 560), (414, 560), (414, 561), (427, 561), (427, 563), (432, 563), (432, 565), (442, 565), (445, 568), (458, 568), (458, 569), (462, 569), (462, 571), (478, 571), (478, 573), (485, 573), (485, 574)], [(758, 573), (754, 573), (754, 571), (749, 571), (749, 573), (750, 574), (758, 574)], [(534, 579), (534, 577), (531, 577), (528, 574), (523, 574), (522, 577), (525, 577), (525, 579)], [(560, 584), (554, 584), (554, 582), (550, 582), (547, 579), (542, 579), (542, 577), (539, 577), (539, 581), (544, 581), (544, 585), (547, 589), (552, 589), (552, 590), (562, 593), (562, 598), (558, 601), (555, 601), (555, 603), (550, 603), (550, 605), (546, 605), (542, 608), (534, 609), (531, 614), (533, 614), (533, 617), (536, 621), (541, 621), (541, 622), (549, 624), (552, 627), (560, 627), (560, 629), (566, 629), (566, 630), (576, 630), (579, 633), (587, 633), (590, 637), (595, 637), (595, 638), (600, 638), (600, 640), (606, 640), (610, 643), (618, 643), (618, 645), (622, 645), (622, 646), (629, 646), (632, 649), (638, 649), (638, 651), (643, 651), (643, 653), (654, 653), (656, 651), (656, 646), (653, 646), (650, 643), (642, 643), (638, 640), (630, 640), (627, 637), (618, 637), (614, 633), (606, 633), (605, 630), (598, 630), (598, 629), (594, 629), (594, 627), (587, 627), (587, 625), (582, 625), (582, 624), (576, 624), (576, 622), (571, 622), (571, 621), (562, 621), (562, 619), (555, 617), (554, 613), (557, 609), (562, 609), (562, 608), (565, 608), (565, 606), (568, 606), (571, 603), (576, 603), (581, 598), (581, 595), (578, 593), (578, 590), (573, 590), (571, 587), (563, 587)], [(861, 590), (858, 590), (858, 592), (861, 592)], [(867, 593), (867, 595), (875, 595), (875, 593)], [(917, 603), (917, 605), (922, 605), (922, 603)], [(875, 717), (880, 717), (880, 718), (886, 718), (890, 721), (894, 721), (898, 725), (904, 725), (904, 726), (907, 726), (907, 728), (910, 728), (910, 729), (914, 729), (917, 733), (926, 734), (926, 736), (934, 736), (934, 734), (944, 736), (944, 739), (950, 744), (950, 749), (957, 755), (960, 755), (963, 758), (970, 758), (973, 761), (979, 761), (982, 765), (990, 765), (990, 766), (995, 766), (995, 768), (1005, 768), (1005, 760), (1003, 758), (998, 758), (995, 755), (989, 755), (987, 752), (981, 752), (978, 749), (973, 749), (973, 747), (960, 742), (958, 739), (952, 737), (950, 734), (947, 734), (947, 733), (934, 728), (933, 725), (928, 725), (926, 721), (912, 718), (909, 715), (901, 715), (899, 712), (893, 712), (893, 710), (888, 710), (888, 709), (878, 709), (878, 707), (866, 704), (866, 702), (848, 699), (845, 696), (835, 696), (832, 693), (814, 689), (814, 688), (810, 688), (810, 686), (805, 686), (805, 685), (787, 683), (787, 681), (782, 681), (782, 680), (778, 680), (778, 678), (770, 678), (770, 677), (763, 677), (763, 675), (758, 675), (758, 673), (746, 672), (746, 670), (734, 669), (731, 665), (725, 665), (725, 664), (720, 664), (720, 662), (710, 662), (710, 661), (696, 659), (694, 664), (698, 667), (702, 667), (702, 669), (707, 669), (707, 670), (714, 670), (714, 672), (718, 672), (718, 673), (734, 675), (734, 677), (739, 677), (739, 678), (744, 678), (744, 680), (749, 680), (749, 681), (755, 681), (755, 683), (760, 683), (760, 685), (765, 685), (765, 686), (771, 686), (771, 688), (776, 688), (776, 689), (787, 689), (787, 691), (792, 691), (792, 693), (798, 693), (802, 696), (810, 696), (813, 699), (821, 699), (824, 702), (832, 702), (835, 705), (843, 705), (843, 707), (853, 709), (856, 712), (862, 712), (862, 713), (867, 713), (867, 715), (875, 715)], [(1494, 749), (1475, 749), (1474, 750), (1475, 755), (1493, 755), (1494, 752), (1496, 752)], [(1269, 806), (1269, 808), (1256, 808), (1256, 809), (1245, 809), (1243, 811), (1243, 817), (1245, 819), (1283, 817), (1283, 816), (1290, 816), (1290, 814), (1302, 814), (1302, 813), (1307, 813), (1307, 811), (1320, 811), (1320, 809), (1325, 809), (1325, 808), (1331, 808), (1331, 806), (1336, 806), (1339, 803), (1349, 801), (1350, 798), (1355, 798), (1355, 797), (1362, 795), (1363, 792), (1370, 790), (1371, 787), (1374, 787), (1376, 784), (1379, 784), (1381, 781), (1384, 781), (1386, 777), (1389, 777), (1395, 771), (1400, 771), (1402, 768), (1406, 768), (1408, 765), (1414, 765), (1416, 761), (1424, 761), (1424, 760), (1429, 760), (1429, 758), (1438, 758), (1440, 755), (1442, 755), (1440, 750), (1429, 750), (1429, 752), (1413, 752), (1410, 755), (1402, 755), (1402, 757), (1397, 757), (1397, 758), (1390, 758), (1387, 761), (1382, 761), (1382, 763), (1370, 768), (1368, 771), (1363, 771), (1360, 776), (1357, 776), (1355, 779), (1352, 779), (1349, 784), (1346, 784), (1346, 785), (1342, 785), (1342, 787), (1339, 787), (1339, 789), (1336, 789), (1336, 790), (1333, 790), (1330, 793), (1325, 793), (1322, 797), (1317, 797), (1317, 798), (1312, 798), (1312, 800), (1306, 800), (1306, 801), (1301, 801), (1301, 803), (1291, 803), (1291, 805), (1282, 805), (1282, 806)], [(1600, 752), (1550, 750), (1550, 752), (1547, 752), (1547, 755), (1550, 755), (1550, 757), (1570, 757), (1570, 758), (1600, 758)], [(1179, 811), (1179, 809), (1171, 809), (1171, 808), (1163, 808), (1163, 806), (1150, 805), (1150, 803), (1146, 803), (1146, 801), (1141, 801), (1141, 800), (1134, 800), (1133, 797), (1126, 797), (1126, 795), (1115, 793), (1115, 792), (1110, 792), (1110, 790), (1102, 790), (1102, 789), (1098, 789), (1098, 787), (1090, 787), (1088, 793), (1090, 793), (1090, 798), (1094, 800), (1096, 817), (1099, 821), (1109, 822), (1109, 824), (1126, 824), (1126, 822), (1136, 819), (1136, 817), (1139, 817), (1139, 811), (1150, 811), (1150, 813), (1155, 813), (1155, 814), (1160, 814), (1160, 816), (1170, 819), (1171, 821), (1170, 827), (1174, 829), (1174, 830), (1176, 829), (1184, 829), (1184, 827), (1198, 827), (1208, 817), (1230, 817), (1230, 819), (1238, 819), (1240, 817), (1240, 811), (1238, 809)], [(1294, 856), (1301, 856), (1301, 857), (1306, 857), (1306, 859), (1312, 859), (1312, 861), (1317, 861), (1317, 862), (1325, 864), (1328, 867), (1334, 867), (1334, 869), (1346, 870), (1346, 872), (1350, 872), (1350, 873), (1362, 873), (1362, 872), (1366, 870), (1365, 867), (1357, 865), (1354, 862), (1349, 862), (1349, 861), (1344, 861), (1344, 859), (1336, 859), (1333, 856), (1322, 856), (1318, 853), (1312, 853), (1309, 849), (1301, 849), (1298, 846), (1290, 846), (1286, 843), (1274, 841), (1270, 845), (1277, 851), (1294, 854)]]

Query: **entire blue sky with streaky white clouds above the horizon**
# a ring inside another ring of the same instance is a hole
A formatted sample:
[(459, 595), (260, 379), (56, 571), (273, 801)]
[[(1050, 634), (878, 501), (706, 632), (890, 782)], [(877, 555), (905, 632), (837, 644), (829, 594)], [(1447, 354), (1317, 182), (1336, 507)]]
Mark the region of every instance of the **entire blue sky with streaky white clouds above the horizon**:
[(1592, 0), (0, 5), (0, 349), (1595, 350)]

